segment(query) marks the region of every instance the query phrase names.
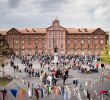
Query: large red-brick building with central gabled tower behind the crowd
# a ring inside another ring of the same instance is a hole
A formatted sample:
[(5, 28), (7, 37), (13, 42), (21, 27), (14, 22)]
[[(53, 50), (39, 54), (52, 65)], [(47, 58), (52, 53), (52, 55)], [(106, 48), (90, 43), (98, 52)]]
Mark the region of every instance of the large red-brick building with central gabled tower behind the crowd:
[(17, 55), (54, 53), (55, 47), (59, 54), (100, 55), (108, 38), (101, 28), (64, 28), (55, 20), (48, 28), (12, 28), (6, 39)]

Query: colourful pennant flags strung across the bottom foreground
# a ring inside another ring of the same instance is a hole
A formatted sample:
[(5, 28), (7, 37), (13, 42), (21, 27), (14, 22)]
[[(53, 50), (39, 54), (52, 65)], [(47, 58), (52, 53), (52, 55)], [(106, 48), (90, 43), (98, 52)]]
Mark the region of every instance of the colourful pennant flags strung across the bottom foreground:
[[(23, 84), (26, 84), (27, 83), (24, 78), (19, 78), (19, 80)], [(100, 77), (99, 78), (95, 78), (95, 79), (91, 79), (91, 80), (86, 80), (85, 86), (88, 86), (88, 85), (91, 85), (92, 86), (92, 85), (96, 84), (99, 80), (100, 80)], [(63, 96), (64, 97), (64, 100), (67, 100), (66, 98), (67, 97), (70, 98), (71, 97), (71, 94), (72, 94), (71, 87), (69, 87), (69, 86), (65, 86), (65, 87), (63, 87), (63, 86), (53, 86), (53, 87), (51, 87), (51, 86), (46, 86), (46, 85), (40, 86), (36, 82), (35, 83), (33, 82), (32, 88), (37, 88), (38, 91), (41, 92), (41, 97), (43, 97), (44, 95), (48, 95), (49, 93), (53, 92), (56, 95)], [(11, 91), (11, 94), (15, 98), (19, 94), (20, 100), (24, 100), (26, 93), (28, 94), (29, 97), (32, 97), (33, 96), (33, 93), (32, 93), (33, 90), (31, 88), (28, 88), (28, 90), (26, 90), (26, 89), (21, 88), (21, 87), (18, 86), (17, 89), (10, 89), (10, 91)], [(2, 92), (2, 91), (0, 91), (0, 92)], [(96, 90), (94, 91), (94, 93), (96, 94)], [(84, 94), (85, 94), (85, 96), (87, 95), (86, 94), (86, 90), (84, 90)], [(78, 98), (79, 98), (79, 100), (81, 100), (80, 93), (78, 94)]]

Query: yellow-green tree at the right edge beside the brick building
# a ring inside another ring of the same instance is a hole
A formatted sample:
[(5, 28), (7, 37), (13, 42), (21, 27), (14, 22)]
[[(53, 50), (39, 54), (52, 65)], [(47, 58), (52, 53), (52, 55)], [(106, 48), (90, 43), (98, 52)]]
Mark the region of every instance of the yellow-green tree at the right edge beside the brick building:
[(110, 44), (107, 44), (105, 49), (103, 50), (101, 61), (103, 63), (110, 64)]

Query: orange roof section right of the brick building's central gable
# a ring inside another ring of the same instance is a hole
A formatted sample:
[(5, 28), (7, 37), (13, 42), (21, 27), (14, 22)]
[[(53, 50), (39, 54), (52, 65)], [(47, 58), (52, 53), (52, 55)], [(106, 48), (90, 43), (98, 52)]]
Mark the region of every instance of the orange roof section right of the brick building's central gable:
[(95, 29), (88, 29), (88, 28), (66, 28), (68, 33), (92, 33)]

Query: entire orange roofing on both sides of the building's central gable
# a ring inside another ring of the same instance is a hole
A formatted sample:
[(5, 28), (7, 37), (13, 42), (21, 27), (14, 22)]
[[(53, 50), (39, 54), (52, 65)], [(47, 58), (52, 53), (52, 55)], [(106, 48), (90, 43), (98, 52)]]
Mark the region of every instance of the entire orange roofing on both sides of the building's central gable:
[[(17, 29), (17, 28), (12, 28), (17, 30), (20, 33), (23, 34), (45, 34), (46, 33), (46, 28), (23, 28), (23, 29)], [(68, 32), (68, 34), (91, 34), (93, 32), (95, 32), (97, 29), (100, 28), (96, 28), (96, 29), (89, 29), (89, 28), (65, 28), (66, 31)], [(7, 32), (9, 31), (9, 29), (0, 29), (0, 34), (2, 35), (6, 35)], [(109, 32), (106, 32), (107, 35), (109, 35)]]

